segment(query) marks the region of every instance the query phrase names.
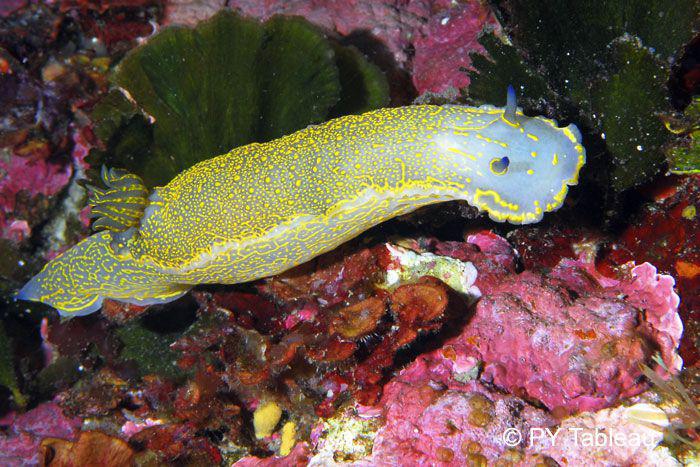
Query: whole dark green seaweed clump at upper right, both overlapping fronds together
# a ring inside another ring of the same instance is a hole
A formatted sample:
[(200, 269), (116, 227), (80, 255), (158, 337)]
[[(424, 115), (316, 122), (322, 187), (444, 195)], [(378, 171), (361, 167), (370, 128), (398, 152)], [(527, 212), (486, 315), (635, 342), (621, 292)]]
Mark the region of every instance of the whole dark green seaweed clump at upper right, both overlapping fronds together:
[(660, 118), (673, 110), (671, 59), (693, 37), (698, 4), (509, 0), (498, 7), (510, 42), (480, 39), (489, 58), (473, 55), (469, 97), (499, 102), (507, 84), (522, 86), (526, 111), (573, 121), (596, 142), (587, 169), (595, 167), (593, 178), (613, 193), (657, 174), (672, 140)]

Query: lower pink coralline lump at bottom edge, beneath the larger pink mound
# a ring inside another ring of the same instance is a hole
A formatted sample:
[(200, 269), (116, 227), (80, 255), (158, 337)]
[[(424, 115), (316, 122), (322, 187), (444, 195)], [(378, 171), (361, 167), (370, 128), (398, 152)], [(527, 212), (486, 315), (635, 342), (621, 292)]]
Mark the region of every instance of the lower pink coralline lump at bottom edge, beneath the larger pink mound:
[(386, 423), (377, 433), (369, 464), (515, 463), (523, 455), (505, 443), (506, 430), (527, 434), (556, 423), (518, 397), (491, 391), (478, 381), (450, 379), (445, 368), (435, 371), (434, 363), (419, 358), (385, 386), (381, 405)]

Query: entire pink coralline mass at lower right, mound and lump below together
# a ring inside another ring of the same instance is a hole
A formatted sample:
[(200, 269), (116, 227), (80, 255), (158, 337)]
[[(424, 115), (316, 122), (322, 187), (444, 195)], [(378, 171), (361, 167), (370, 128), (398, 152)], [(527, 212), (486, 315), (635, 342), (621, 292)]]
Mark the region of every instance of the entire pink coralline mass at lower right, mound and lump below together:
[[(493, 272), (508, 264), (507, 243), (498, 239), (470, 237), (500, 252), (501, 265), (473, 244), (433, 248), (470, 256), (477, 269)], [(619, 280), (574, 260), (562, 261), (548, 276), (503, 271), (477, 281), (484, 296), (458, 336), (419, 356), (384, 387), (377, 407), (386, 422), (375, 440), (373, 465), (532, 465), (560, 458), (549, 448), (522, 449), (530, 445), (531, 429), (542, 431), (559, 424), (554, 417), (611, 407), (641, 393), (648, 386), (639, 364), (649, 364), (656, 349), (678, 371), (678, 296), (673, 279), (652, 265), (636, 266)], [(508, 429), (523, 435), (518, 450), (504, 442)]]

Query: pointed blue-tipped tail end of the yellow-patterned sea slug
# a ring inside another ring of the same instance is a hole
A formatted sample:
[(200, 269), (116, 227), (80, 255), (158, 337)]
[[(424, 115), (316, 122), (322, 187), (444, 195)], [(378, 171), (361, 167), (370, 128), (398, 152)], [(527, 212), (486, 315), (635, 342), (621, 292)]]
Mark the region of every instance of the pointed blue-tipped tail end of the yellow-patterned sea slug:
[(21, 300), (43, 302), (61, 316), (97, 311), (104, 298), (136, 305), (175, 300), (190, 289), (128, 253), (116, 253), (109, 232), (96, 233), (49, 262), (17, 294)]

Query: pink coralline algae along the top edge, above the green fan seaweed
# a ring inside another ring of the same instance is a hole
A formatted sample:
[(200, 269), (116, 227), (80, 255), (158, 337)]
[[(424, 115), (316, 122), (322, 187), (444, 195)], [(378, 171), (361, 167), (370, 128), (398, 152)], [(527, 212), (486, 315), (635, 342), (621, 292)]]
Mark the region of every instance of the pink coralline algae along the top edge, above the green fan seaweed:
[[(165, 22), (194, 24), (228, 6), (244, 15), (268, 19), (276, 14), (303, 16), (342, 36), (368, 32), (411, 69), (419, 94), (469, 85), (470, 52), (483, 52), (477, 37), (498, 22), (482, 2), (449, 0), (176, 0), (166, 7)], [(411, 59), (409, 50), (415, 50)], [(412, 63), (411, 63), (412, 61)]]

